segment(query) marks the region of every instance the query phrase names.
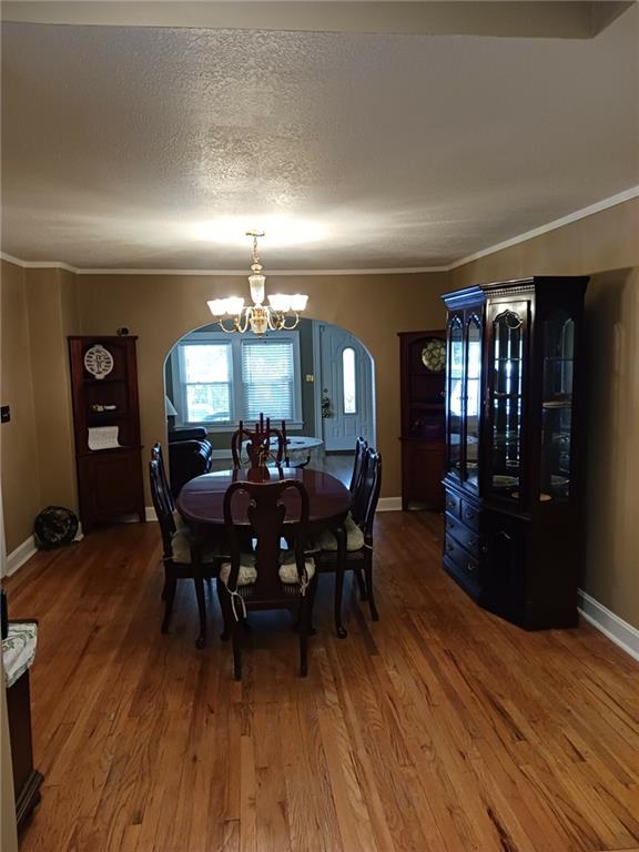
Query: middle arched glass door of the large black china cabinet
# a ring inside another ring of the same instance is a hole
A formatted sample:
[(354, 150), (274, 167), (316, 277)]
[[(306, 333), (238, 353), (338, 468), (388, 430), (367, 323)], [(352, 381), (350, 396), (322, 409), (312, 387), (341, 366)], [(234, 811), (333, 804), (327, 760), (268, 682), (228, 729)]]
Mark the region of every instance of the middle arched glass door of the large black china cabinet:
[[(491, 450), (490, 490), (519, 499), (521, 487), (521, 428), (524, 341), (527, 303), (503, 306), (493, 321), (490, 357)], [(498, 306), (499, 308), (499, 306)]]

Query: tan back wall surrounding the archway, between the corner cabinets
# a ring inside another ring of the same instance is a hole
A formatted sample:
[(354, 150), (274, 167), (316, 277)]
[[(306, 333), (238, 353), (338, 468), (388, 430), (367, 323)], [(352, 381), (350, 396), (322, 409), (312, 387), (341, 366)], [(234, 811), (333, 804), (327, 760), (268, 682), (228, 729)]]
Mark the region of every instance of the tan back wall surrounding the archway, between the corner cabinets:
[[(375, 359), (377, 444), (384, 458), (382, 495), (400, 494), (399, 343), (397, 332), (440, 328), (446, 274), (272, 276), (271, 291), (308, 293), (307, 314), (353, 332)], [(241, 292), (243, 277), (91, 275), (79, 278), (82, 334), (114, 334), (125, 325), (139, 335), (138, 368), (142, 443), (165, 433), (163, 362), (173, 344), (211, 321), (206, 300)]]

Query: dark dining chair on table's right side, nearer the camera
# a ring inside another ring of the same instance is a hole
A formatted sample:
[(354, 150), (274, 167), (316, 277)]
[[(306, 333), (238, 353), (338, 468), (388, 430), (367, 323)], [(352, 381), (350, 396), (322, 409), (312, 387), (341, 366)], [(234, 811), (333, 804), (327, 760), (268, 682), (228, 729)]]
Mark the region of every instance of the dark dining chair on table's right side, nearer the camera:
[[(371, 447), (364, 452), (359, 485), (352, 503), (351, 513), (344, 523), (346, 532), (345, 569), (357, 575), (364, 571), (366, 597), (373, 621), (379, 620), (373, 590), (373, 523), (382, 487), (382, 456)], [(317, 570), (321, 572), (338, 571), (337, 539), (328, 530), (317, 539), (318, 552), (315, 554)], [(337, 576), (335, 594), (341, 600), (343, 577)]]

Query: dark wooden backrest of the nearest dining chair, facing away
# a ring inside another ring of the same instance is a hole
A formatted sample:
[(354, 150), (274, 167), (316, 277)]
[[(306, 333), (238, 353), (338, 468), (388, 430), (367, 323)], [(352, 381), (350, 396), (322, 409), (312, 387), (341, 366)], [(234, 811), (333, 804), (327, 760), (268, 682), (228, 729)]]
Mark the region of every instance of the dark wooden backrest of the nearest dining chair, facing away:
[[(267, 602), (282, 599), (282, 582), (280, 580), (280, 540), (284, 532), (284, 520), (286, 518), (287, 507), (283, 501), (283, 496), (293, 497), (292, 491), (296, 491), (298, 499), (295, 500), (290, 518), (294, 520), (286, 525), (286, 536), (293, 537), (295, 541), (295, 562), (297, 574), (302, 578), (304, 570), (304, 542), (306, 540), (306, 528), (308, 523), (308, 495), (304, 485), (296, 479), (276, 479), (271, 483), (233, 483), (224, 495), (224, 523), (226, 525), (226, 536), (231, 552), (231, 572), (229, 576), (229, 588), (236, 589), (237, 574), (240, 571), (240, 538), (241, 532), (245, 532), (246, 527), (237, 525), (234, 518), (237, 517), (237, 506), (242, 501), (246, 509), (246, 516), (251, 523), (252, 532), (256, 538), (255, 546), (255, 568), (257, 570), (257, 580), (255, 589), (251, 596), (252, 600)], [(298, 506), (298, 509), (297, 509)]]

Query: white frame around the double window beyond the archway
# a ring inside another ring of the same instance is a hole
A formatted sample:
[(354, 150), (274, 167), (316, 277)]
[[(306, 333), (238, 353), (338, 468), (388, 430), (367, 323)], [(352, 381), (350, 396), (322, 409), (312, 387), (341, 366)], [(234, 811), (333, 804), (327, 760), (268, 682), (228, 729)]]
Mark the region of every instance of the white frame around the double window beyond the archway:
[[(242, 383), (242, 345), (255, 341), (293, 343), (293, 417), (286, 420), (287, 429), (301, 429), (304, 426), (302, 416), (302, 363), (300, 358), (300, 332), (271, 332), (257, 336), (251, 332), (245, 334), (226, 334), (225, 332), (192, 332), (179, 341), (171, 353), (171, 374), (173, 377), (173, 400), (178, 409), (178, 422), (181, 426), (204, 426), (206, 432), (223, 433), (234, 432), (240, 420), (250, 425), (243, 410), (243, 383)], [(189, 420), (186, 419), (186, 383), (184, 378), (183, 347), (192, 345), (211, 345), (223, 343), (231, 348), (231, 419), (230, 420)], [(265, 413), (266, 415), (266, 413)], [(273, 424), (275, 427), (278, 424)]]

